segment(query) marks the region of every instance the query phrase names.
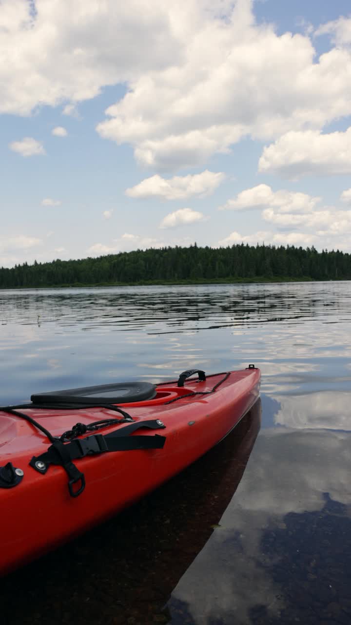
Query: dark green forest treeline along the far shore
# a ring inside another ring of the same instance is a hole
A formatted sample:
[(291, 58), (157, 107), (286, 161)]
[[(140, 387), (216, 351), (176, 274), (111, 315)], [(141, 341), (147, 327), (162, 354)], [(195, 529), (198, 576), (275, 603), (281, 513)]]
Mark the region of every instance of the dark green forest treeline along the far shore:
[(1, 267), (0, 287), (49, 287), (151, 282), (351, 279), (351, 254), (314, 247), (163, 247), (98, 258)]

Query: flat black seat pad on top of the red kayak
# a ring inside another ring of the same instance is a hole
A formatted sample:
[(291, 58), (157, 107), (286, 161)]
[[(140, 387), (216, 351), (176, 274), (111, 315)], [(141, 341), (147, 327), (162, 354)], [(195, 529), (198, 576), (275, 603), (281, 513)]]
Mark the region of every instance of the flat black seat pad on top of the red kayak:
[(85, 386), (64, 391), (40, 392), (31, 396), (34, 404), (127, 404), (132, 401), (154, 399), (156, 386), (149, 382), (122, 382), (121, 384), (102, 384)]

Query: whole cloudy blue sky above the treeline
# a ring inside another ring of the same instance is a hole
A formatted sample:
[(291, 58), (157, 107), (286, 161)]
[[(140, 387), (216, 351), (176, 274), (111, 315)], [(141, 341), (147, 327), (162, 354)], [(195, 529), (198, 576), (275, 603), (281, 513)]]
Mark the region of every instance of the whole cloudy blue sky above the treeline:
[(351, 251), (350, 16), (3, 0), (0, 265), (194, 241)]

